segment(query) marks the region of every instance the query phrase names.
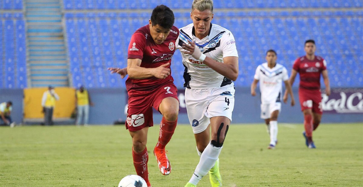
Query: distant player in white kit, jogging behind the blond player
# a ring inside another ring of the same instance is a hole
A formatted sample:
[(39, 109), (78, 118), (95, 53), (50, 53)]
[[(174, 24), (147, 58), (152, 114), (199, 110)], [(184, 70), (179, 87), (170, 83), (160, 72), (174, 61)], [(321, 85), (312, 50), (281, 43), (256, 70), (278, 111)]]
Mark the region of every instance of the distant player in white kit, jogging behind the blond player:
[[(291, 106), (295, 105), (294, 95), (291, 90), (289, 76), (286, 68), (277, 64), (277, 54), (274, 50), (266, 52), (266, 63), (259, 65), (251, 84), (251, 95), (256, 95), (256, 87), (260, 81), (261, 92), (261, 119), (267, 125), (267, 132), (270, 135), (268, 149), (274, 149), (277, 143), (277, 117), (281, 111), (282, 81), (285, 83), (287, 92), (291, 95)], [(287, 94), (284, 95), (284, 102), (287, 102)]]

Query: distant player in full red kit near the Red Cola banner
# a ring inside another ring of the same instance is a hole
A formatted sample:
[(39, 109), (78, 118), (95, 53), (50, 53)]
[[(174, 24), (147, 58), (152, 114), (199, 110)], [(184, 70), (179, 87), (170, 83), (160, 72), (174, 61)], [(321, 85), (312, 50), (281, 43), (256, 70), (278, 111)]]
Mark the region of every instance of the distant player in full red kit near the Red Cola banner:
[[(323, 75), (325, 93), (330, 95), (330, 85), (326, 61), (320, 56), (315, 56), (315, 41), (305, 41), (305, 56), (295, 60), (290, 76), (290, 84), (293, 85), (296, 74), (300, 74), (299, 101), (304, 114), (305, 144), (308, 148), (315, 148), (313, 131), (319, 126), (323, 109), (321, 107), (320, 74)], [(287, 96), (287, 92), (285, 92)], [(285, 97), (285, 96), (284, 96)]]

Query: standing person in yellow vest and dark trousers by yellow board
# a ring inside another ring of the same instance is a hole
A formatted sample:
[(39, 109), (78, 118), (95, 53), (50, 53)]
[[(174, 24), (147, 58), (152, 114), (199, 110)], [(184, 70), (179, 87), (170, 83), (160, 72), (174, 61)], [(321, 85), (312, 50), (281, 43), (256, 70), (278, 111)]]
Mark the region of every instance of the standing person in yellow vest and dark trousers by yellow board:
[(48, 86), (42, 97), (42, 107), (44, 113), (44, 124), (53, 125), (53, 109), (56, 106), (56, 100), (59, 100), (59, 96), (54, 91), (53, 86)]

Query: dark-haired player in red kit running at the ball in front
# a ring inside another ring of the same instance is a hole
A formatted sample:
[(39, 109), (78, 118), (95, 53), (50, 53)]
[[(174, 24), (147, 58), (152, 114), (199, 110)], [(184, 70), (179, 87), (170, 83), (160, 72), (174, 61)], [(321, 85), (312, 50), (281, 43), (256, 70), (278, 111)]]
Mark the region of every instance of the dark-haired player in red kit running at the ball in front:
[(145, 179), (148, 187), (151, 184), (148, 179), (146, 142), (148, 128), (154, 124), (152, 107), (163, 115), (154, 155), (163, 175), (171, 171), (165, 145), (174, 133), (179, 112), (177, 89), (170, 74), (171, 58), (179, 41), (179, 29), (173, 24), (174, 13), (170, 8), (157, 6), (152, 11), (149, 24), (136, 30), (131, 37), (127, 71), (109, 68), (111, 73), (119, 73), (122, 77), (129, 74), (126, 80), (129, 95), (126, 128), (132, 137), (132, 158), (136, 173)]

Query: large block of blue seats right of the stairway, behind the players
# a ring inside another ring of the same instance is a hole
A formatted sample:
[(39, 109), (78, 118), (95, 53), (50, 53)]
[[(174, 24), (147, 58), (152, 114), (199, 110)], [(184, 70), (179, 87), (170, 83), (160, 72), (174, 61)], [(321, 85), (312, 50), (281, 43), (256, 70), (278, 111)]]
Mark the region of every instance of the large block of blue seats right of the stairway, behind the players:
[[(131, 16), (132, 15), (132, 16)], [(175, 25), (191, 22), (188, 12), (176, 14)], [(93, 87), (122, 87), (124, 80), (110, 75), (110, 66), (125, 67), (127, 49), (132, 33), (147, 23), (144, 13), (66, 13), (66, 33), (70, 56), (70, 71), (74, 85)], [(289, 72), (293, 61), (305, 54), (303, 43), (315, 39), (317, 55), (328, 61), (332, 86), (359, 86), (362, 84), (363, 41), (361, 16), (353, 17), (218, 17), (213, 23), (231, 28), (240, 55), (240, 76), (237, 86), (248, 86), (254, 70), (265, 60), (270, 48), (277, 51), (278, 63)], [(180, 52), (172, 61), (172, 75), (177, 86), (183, 85)], [(355, 68), (350, 68), (355, 67)], [(83, 73), (80, 73), (81, 70)], [(344, 71), (342, 71), (344, 70)], [(348, 76), (347, 76), (348, 75)], [(346, 77), (351, 77), (348, 81)], [(353, 79), (354, 77), (354, 79)], [(297, 86), (297, 84), (295, 85)]]

